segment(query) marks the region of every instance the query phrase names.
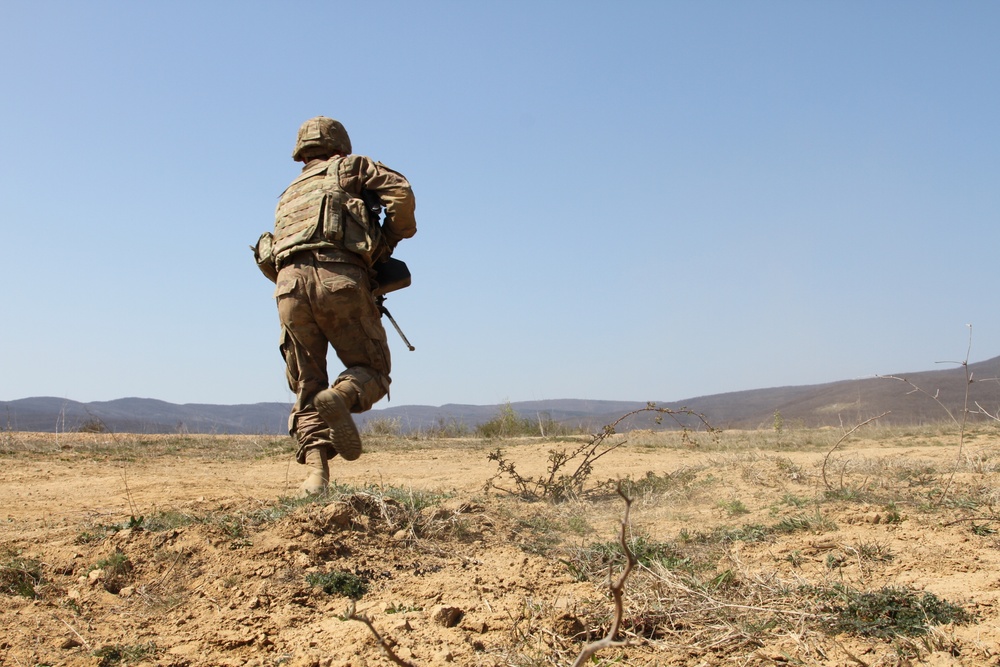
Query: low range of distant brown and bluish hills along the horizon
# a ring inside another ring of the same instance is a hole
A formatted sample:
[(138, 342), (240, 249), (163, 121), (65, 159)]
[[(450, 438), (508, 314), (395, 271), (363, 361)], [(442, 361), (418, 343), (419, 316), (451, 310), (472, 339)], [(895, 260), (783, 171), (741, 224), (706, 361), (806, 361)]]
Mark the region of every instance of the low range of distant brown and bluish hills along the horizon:
[[(657, 403), (674, 410), (688, 409), (705, 415), (718, 428), (769, 427), (776, 412), (788, 427), (853, 425), (883, 412), (883, 423), (921, 424), (948, 419), (948, 411), (960, 417), (969, 390), (969, 408), (996, 414), (1000, 409), (1000, 357), (970, 364), (972, 383), (966, 382), (961, 366), (942, 370), (898, 373), (896, 377), (842, 380), (799, 387), (754, 389), (684, 401)], [(921, 391), (915, 391), (914, 388)], [(936, 397), (932, 398), (932, 397)], [(511, 403), (522, 417), (541, 419), (596, 431), (645, 403), (559, 399)], [(942, 405), (944, 407), (942, 407)], [(62, 398), (23, 398), (0, 401), (2, 427), (12, 431), (76, 431), (100, 425), (118, 433), (218, 433), (283, 434), (290, 404), (176, 405), (148, 398), (79, 403)], [(501, 406), (403, 405), (358, 415), (364, 425), (373, 419), (388, 419), (403, 431), (464, 425), (470, 430), (495, 417)], [(669, 428), (657, 425), (649, 413), (641, 413), (622, 428)], [(976, 418), (975, 416), (973, 418)], [(981, 418), (981, 417), (980, 417)], [(696, 420), (687, 420), (695, 424)]]

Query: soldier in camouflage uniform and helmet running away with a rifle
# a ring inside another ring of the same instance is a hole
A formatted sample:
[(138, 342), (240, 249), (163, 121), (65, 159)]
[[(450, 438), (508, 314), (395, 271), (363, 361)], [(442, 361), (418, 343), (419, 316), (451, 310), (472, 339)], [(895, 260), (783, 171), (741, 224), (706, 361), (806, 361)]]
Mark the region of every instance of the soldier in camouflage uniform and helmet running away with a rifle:
[[(276, 282), (281, 353), (295, 393), (288, 431), (299, 444), (296, 460), (308, 467), (300, 489), (312, 494), (326, 490), (331, 458), (361, 455), (351, 413), (371, 409), (389, 393), (389, 347), (372, 295), (373, 265), (413, 236), (417, 224), (406, 178), (352, 155), (338, 121), (307, 120), (292, 158), (304, 163), (302, 173), (282, 193), (274, 234), (261, 237), (255, 256)], [(371, 193), (385, 206), (381, 225), (363, 200)], [(346, 367), (333, 386), (329, 345)]]

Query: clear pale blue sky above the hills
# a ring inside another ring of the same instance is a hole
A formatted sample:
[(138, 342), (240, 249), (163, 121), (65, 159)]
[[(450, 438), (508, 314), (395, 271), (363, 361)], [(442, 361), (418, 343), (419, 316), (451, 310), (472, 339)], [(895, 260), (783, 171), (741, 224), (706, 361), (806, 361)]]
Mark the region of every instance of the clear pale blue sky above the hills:
[[(404, 173), (390, 405), (1000, 354), (1000, 3), (0, 3), (0, 400), (290, 401), (249, 244), (341, 120)], [(332, 357), (332, 375), (341, 369)]]

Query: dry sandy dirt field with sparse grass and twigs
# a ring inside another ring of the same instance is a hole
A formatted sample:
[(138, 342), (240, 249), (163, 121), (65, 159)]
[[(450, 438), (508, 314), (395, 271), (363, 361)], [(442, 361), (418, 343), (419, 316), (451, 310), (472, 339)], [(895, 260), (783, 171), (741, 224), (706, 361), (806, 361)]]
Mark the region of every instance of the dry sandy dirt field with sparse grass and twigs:
[(959, 432), (633, 432), (560, 502), (489, 454), (586, 437), (371, 435), (304, 502), (286, 439), (6, 432), (0, 665), (571, 665), (622, 479), (587, 664), (996, 665), (1000, 432)]

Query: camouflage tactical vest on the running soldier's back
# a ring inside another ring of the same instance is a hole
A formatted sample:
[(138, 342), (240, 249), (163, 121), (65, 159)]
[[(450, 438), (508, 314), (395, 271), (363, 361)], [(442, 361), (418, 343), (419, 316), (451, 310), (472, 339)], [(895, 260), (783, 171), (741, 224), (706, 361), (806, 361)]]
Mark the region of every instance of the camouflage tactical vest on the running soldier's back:
[(289, 255), (311, 248), (336, 248), (369, 266), (381, 230), (369, 224), (364, 201), (340, 187), (341, 160), (321, 162), (285, 188), (274, 216), (274, 258), (280, 267)]

